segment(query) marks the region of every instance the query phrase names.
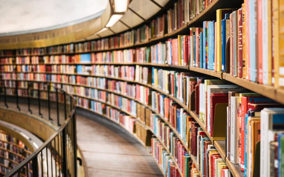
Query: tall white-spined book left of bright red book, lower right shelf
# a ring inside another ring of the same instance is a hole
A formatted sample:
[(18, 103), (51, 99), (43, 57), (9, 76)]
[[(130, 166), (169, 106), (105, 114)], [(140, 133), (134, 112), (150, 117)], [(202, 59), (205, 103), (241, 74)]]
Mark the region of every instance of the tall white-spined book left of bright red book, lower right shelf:
[(239, 120), (237, 116), (239, 97), (231, 97), (230, 161), (239, 164)]

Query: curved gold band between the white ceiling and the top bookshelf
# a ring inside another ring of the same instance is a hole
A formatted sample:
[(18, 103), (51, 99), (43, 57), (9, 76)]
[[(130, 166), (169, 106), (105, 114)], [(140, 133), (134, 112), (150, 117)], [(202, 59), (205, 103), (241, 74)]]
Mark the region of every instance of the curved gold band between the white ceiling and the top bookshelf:
[(102, 16), (73, 26), (26, 35), (0, 37), (0, 49), (37, 48), (72, 43), (105, 27), (113, 10), (110, 1)]

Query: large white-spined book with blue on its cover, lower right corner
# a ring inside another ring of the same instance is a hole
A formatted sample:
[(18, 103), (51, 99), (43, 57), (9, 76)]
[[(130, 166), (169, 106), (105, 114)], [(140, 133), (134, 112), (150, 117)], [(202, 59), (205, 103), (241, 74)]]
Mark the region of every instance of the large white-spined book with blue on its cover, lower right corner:
[(261, 127), (261, 141), (260, 141), (260, 176), (269, 176), (270, 170), (270, 147), (269, 142), (274, 140), (273, 119), (284, 123), (284, 109), (283, 108), (264, 108), (260, 112), (260, 127)]

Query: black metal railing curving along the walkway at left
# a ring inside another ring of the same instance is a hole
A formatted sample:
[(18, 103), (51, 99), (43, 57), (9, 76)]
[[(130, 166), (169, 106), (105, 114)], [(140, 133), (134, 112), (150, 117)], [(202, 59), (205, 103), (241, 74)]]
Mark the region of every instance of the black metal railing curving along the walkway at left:
[(35, 152), (5, 177), (76, 177), (76, 104), (54, 84), (0, 80), (0, 105), (34, 114), (59, 126)]

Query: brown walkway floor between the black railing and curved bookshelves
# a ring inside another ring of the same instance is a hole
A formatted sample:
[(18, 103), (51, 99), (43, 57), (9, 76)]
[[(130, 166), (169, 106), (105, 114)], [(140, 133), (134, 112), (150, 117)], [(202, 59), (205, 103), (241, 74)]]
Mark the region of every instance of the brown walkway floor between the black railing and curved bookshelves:
[(126, 130), (103, 117), (77, 111), (77, 144), (88, 176), (163, 176), (151, 154)]

